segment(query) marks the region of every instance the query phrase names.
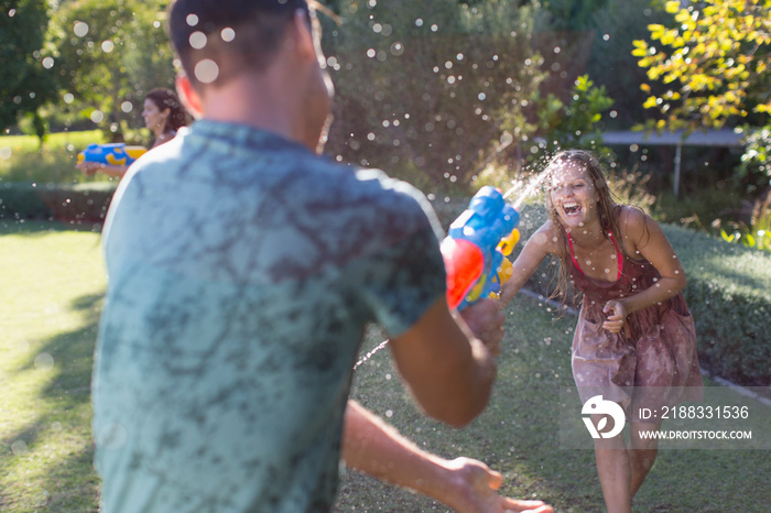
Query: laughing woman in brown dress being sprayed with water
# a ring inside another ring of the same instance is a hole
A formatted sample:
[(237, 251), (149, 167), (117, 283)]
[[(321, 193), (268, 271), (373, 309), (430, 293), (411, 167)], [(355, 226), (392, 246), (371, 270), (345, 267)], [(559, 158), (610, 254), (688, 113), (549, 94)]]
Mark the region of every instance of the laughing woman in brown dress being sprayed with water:
[[(685, 272), (651, 217), (613, 203), (590, 153), (560, 153), (545, 173), (550, 219), (522, 249), (501, 301), (508, 304), (550, 254), (560, 262), (563, 301), (571, 288), (583, 294), (573, 376), (583, 403), (601, 393), (631, 422), (628, 444), (622, 435), (595, 440), (606, 506), (628, 513), (658, 450), (641, 433), (661, 426), (641, 421), (640, 408), (661, 412), (702, 395), (696, 334), (682, 295)], [(593, 419), (597, 425), (600, 417)]]

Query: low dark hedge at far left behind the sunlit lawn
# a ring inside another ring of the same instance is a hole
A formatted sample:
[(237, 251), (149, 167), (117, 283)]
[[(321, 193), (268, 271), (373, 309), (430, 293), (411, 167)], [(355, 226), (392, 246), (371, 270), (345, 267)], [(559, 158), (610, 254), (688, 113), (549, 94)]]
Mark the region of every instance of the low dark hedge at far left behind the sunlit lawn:
[(102, 222), (116, 183), (0, 183), (0, 219)]

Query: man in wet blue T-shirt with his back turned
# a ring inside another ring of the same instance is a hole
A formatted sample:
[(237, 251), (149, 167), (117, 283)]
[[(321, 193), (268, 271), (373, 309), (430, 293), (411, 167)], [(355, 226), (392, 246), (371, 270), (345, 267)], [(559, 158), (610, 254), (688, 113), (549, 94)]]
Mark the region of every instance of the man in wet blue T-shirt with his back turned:
[(425, 198), (314, 152), (332, 85), (313, 26), (304, 0), (170, 7), (203, 119), (132, 166), (105, 226), (105, 512), (328, 510), (370, 321), (428, 415), (460, 426), (487, 403), (502, 315), (448, 310)]

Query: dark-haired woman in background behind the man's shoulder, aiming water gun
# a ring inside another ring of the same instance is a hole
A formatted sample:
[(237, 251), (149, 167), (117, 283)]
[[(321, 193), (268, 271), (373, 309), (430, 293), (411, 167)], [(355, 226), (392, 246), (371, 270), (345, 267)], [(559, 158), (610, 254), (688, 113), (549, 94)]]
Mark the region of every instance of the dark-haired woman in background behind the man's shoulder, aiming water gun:
[[(152, 89), (144, 97), (142, 118), (144, 125), (154, 138), (151, 149), (171, 141), (182, 127), (189, 123), (189, 116), (180, 102), (176, 92), (163, 88)], [(129, 168), (128, 165), (108, 165), (97, 162), (80, 162), (76, 167), (88, 176), (102, 173), (117, 178), (122, 177), (126, 170)]]

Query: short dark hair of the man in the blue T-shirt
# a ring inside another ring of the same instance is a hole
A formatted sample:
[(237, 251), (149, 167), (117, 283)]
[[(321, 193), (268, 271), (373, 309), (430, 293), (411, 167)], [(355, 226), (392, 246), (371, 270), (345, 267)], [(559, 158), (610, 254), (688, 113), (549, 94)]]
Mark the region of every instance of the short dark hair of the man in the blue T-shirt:
[(306, 0), (175, 0), (169, 9), (169, 35), (194, 85), (267, 68), (296, 10), (310, 12)]

